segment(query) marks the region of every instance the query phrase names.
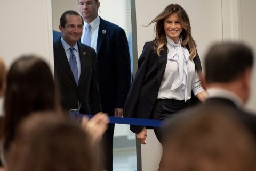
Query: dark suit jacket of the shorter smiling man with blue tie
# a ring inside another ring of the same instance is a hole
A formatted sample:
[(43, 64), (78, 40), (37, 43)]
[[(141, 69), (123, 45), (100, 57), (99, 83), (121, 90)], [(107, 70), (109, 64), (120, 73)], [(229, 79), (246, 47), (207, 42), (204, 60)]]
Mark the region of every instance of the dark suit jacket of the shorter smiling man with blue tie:
[(60, 39), (54, 42), (53, 46), (54, 77), (59, 86), (63, 110), (77, 109), (79, 99), (84, 113), (100, 112), (101, 100), (95, 50), (78, 42), (81, 74), (77, 86)]

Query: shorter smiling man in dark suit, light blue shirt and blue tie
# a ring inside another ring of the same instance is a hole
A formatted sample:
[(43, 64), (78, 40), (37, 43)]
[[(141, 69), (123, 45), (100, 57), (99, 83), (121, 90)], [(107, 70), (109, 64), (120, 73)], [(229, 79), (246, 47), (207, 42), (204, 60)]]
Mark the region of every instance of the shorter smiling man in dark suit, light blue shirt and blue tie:
[(78, 109), (83, 114), (101, 112), (95, 50), (78, 40), (83, 19), (76, 11), (61, 15), (62, 37), (54, 42), (54, 76), (59, 87), (62, 109)]

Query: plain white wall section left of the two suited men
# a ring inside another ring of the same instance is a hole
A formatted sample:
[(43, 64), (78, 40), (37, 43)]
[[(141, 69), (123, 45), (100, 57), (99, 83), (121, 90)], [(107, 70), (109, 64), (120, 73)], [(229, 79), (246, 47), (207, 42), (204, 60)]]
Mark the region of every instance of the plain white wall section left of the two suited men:
[[(51, 0), (1, 0), (0, 30), (0, 56), (7, 68), (20, 55), (34, 53), (53, 71)], [(2, 104), (1, 98), (1, 114)]]

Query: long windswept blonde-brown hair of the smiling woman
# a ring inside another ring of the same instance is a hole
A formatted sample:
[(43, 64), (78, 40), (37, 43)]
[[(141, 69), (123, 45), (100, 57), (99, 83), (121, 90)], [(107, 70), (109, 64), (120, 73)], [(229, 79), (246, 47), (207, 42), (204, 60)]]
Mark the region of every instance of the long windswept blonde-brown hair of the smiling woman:
[(167, 44), (166, 35), (164, 31), (164, 19), (170, 14), (175, 13), (178, 16), (178, 19), (183, 28), (180, 36), (182, 36), (182, 47), (186, 47), (190, 53), (190, 59), (193, 59), (196, 52), (196, 42), (191, 36), (191, 27), (188, 18), (188, 14), (186, 11), (178, 4), (170, 4), (168, 5), (163, 12), (158, 14), (155, 19), (153, 19), (150, 23), (155, 23), (155, 33), (156, 37), (154, 39), (155, 49), (157, 51), (158, 56), (160, 56), (161, 50), (164, 50), (164, 46)]

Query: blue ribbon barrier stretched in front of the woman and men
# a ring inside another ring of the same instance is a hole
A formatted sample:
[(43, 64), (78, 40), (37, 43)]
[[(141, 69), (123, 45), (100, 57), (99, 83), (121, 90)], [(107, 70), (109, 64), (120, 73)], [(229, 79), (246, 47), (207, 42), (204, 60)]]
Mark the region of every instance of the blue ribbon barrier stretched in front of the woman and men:
[[(81, 120), (84, 116), (90, 118), (93, 115), (85, 115), (79, 114), (76, 110), (69, 112), (70, 119)], [(127, 118), (127, 117), (113, 117), (109, 116), (109, 123), (112, 124), (127, 124), (127, 125), (140, 125), (140, 126), (153, 126), (153, 127), (161, 127), (163, 121), (156, 120), (156, 119), (141, 119), (141, 118)]]

